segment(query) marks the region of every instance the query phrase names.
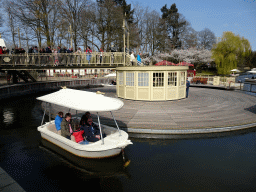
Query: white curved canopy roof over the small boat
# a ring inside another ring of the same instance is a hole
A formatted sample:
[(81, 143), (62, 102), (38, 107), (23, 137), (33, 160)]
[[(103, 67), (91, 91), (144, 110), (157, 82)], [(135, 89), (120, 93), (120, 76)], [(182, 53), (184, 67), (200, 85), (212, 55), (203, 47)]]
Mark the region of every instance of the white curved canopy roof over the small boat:
[(37, 99), (81, 111), (114, 111), (124, 105), (120, 99), (75, 89), (61, 89)]

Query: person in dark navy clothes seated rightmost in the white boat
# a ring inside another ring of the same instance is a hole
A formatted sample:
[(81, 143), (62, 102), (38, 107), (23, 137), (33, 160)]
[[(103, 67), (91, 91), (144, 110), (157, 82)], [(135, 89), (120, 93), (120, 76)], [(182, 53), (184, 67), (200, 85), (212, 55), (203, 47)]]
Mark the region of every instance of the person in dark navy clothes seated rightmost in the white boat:
[(92, 122), (92, 118), (90, 116), (84, 118), (81, 129), (84, 130), (84, 135), (87, 141), (96, 142), (100, 140), (100, 129), (98, 125)]

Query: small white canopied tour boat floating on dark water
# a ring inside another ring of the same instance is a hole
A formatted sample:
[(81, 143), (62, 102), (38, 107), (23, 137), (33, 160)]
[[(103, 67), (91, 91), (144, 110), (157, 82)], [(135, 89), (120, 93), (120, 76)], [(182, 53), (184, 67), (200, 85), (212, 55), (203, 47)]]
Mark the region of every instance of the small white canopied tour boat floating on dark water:
[[(117, 98), (106, 97), (102, 92), (89, 92), (83, 90), (75, 90), (69, 88), (63, 88), (54, 93), (50, 93), (41, 97), (37, 97), (38, 100), (45, 102), (46, 104), (55, 104), (63, 106), (68, 109), (74, 109), (76, 111), (93, 111), (97, 112), (98, 126), (100, 129), (101, 140), (97, 142), (90, 142), (87, 145), (81, 145), (73, 140), (69, 140), (56, 133), (54, 120), (50, 122), (44, 122), (44, 116), (41, 126), (37, 128), (41, 137), (62, 149), (83, 158), (108, 158), (119, 155), (122, 150), (132, 144), (128, 139), (128, 134), (119, 129), (119, 126), (115, 120), (112, 111), (120, 109), (124, 103)], [(117, 128), (113, 128), (100, 123), (99, 113), (101, 111), (109, 111)], [(106, 137), (102, 137), (105, 134)]]

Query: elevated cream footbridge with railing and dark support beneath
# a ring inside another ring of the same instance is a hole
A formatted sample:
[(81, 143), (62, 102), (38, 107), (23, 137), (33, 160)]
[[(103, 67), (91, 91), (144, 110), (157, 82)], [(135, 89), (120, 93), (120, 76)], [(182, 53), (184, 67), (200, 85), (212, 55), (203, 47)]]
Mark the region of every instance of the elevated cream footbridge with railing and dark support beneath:
[(32, 73), (45, 70), (115, 69), (131, 66), (130, 55), (124, 52), (1, 54), (0, 72), (7, 72), (12, 83), (21, 78), (35, 82)]

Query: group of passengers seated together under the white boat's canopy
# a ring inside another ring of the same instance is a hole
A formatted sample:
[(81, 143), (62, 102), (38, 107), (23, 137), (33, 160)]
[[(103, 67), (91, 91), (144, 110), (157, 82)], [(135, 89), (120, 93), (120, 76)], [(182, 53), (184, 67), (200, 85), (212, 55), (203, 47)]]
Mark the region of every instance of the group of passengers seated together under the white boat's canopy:
[[(63, 112), (59, 112), (55, 118), (55, 127), (59, 135), (67, 139), (71, 139), (73, 136), (74, 140), (82, 145), (101, 139), (100, 129), (93, 123), (90, 112), (86, 112), (82, 116), (79, 124), (72, 120), (70, 113), (63, 116)], [(104, 134), (102, 136), (105, 137)]]

